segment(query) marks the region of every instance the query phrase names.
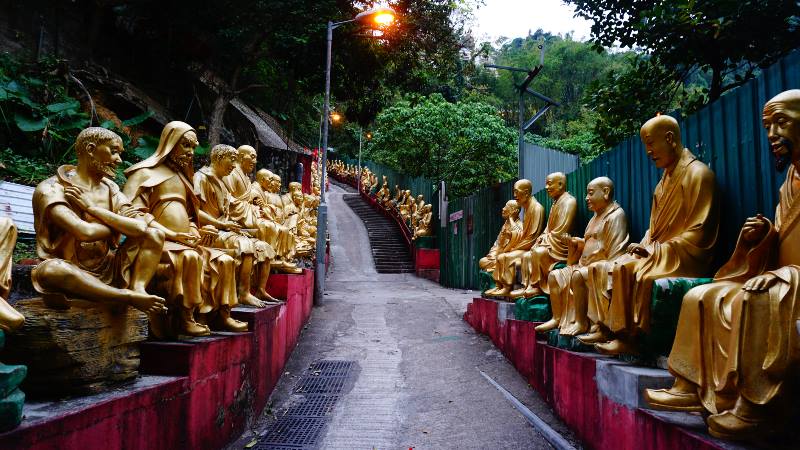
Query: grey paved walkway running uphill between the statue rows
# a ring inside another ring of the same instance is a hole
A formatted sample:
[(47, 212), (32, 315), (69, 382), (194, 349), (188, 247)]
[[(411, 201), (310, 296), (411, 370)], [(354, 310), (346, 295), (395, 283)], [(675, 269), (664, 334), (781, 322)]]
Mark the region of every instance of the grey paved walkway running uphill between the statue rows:
[[(332, 187), (328, 195), (333, 261), (324, 304), (314, 308), (269, 411), (254, 430), (263, 430), (271, 414), (294, 401), (291, 389), (310, 363), (341, 359), (356, 361), (359, 368), (352, 389), (336, 404), (320, 448), (550, 448), (479, 371), (572, 440), (488, 339), (463, 322), (475, 293), (413, 275), (376, 273), (363, 223), (342, 195), (352, 194)], [(242, 448), (250, 436), (231, 448)]]

